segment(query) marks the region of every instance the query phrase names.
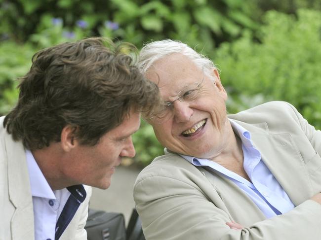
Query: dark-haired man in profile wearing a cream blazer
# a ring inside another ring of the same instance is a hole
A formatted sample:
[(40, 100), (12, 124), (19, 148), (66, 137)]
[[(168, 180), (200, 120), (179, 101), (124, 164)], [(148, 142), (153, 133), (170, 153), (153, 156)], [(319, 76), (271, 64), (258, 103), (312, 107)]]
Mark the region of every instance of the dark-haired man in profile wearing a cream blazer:
[(0, 240), (87, 239), (83, 184), (109, 187), (121, 158), (135, 155), (140, 112), (159, 102), (124, 47), (87, 38), (33, 57), (0, 118)]

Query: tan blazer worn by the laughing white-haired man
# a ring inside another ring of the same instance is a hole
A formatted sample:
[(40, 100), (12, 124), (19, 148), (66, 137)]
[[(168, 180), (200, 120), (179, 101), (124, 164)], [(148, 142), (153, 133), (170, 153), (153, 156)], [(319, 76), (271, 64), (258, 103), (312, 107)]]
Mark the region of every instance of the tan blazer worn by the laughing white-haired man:
[[(156, 158), (137, 177), (134, 200), (147, 240), (321, 240), (321, 131), (284, 102), (229, 115), (248, 130), (262, 160), (296, 206), (266, 219), (231, 180), (177, 154)], [(319, 153), (318, 153), (319, 152)], [(242, 230), (225, 223), (236, 221)]]

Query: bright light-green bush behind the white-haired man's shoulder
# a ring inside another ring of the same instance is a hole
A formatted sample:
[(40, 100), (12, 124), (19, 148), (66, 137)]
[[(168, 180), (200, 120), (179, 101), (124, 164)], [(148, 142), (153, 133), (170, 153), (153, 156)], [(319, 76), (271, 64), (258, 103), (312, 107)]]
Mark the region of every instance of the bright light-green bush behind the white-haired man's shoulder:
[(265, 15), (259, 42), (249, 32), (216, 51), (221, 79), (230, 93), (230, 111), (260, 102), (295, 105), (321, 129), (321, 14), (299, 10), (297, 18), (276, 11)]

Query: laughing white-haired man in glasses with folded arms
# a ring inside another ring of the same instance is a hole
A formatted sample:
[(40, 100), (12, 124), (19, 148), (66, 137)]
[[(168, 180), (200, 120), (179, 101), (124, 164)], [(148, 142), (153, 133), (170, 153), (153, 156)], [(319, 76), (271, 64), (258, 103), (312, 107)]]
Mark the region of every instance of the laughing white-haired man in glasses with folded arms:
[(321, 239), (320, 131), (284, 102), (228, 116), (217, 69), (186, 44), (147, 44), (140, 65), (164, 101), (149, 122), (165, 154), (134, 188), (147, 240)]

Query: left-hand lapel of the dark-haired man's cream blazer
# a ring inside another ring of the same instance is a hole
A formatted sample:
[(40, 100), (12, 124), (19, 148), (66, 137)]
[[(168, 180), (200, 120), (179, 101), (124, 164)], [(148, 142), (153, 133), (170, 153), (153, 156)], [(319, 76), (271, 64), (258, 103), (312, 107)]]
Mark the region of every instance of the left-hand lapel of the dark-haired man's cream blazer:
[(25, 149), (21, 142), (14, 142), (5, 134), (8, 158), (8, 191), (16, 208), (11, 219), (12, 240), (34, 239), (34, 211)]

